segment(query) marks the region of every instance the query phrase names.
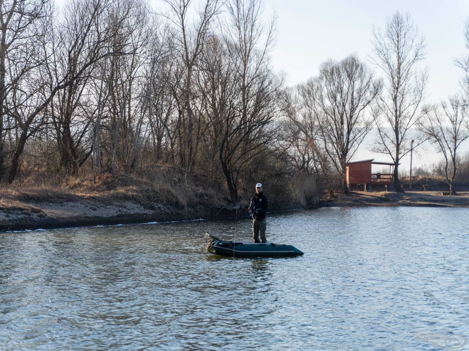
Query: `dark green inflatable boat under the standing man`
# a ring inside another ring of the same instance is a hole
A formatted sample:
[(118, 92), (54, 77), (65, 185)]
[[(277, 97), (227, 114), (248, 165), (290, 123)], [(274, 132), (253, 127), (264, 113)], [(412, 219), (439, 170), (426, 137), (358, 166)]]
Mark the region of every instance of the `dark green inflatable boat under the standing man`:
[(209, 252), (220, 256), (229, 257), (288, 257), (300, 256), (303, 252), (295, 246), (285, 244), (254, 243), (254, 242), (233, 242), (214, 241)]

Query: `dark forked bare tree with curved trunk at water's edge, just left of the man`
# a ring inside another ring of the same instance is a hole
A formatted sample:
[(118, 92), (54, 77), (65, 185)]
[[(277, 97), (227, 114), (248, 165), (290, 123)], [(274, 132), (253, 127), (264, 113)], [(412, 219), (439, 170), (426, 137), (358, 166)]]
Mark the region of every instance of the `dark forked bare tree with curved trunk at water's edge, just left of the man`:
[(209, 120), (208, 135), (217, 150), (230, 193), (229, 200), (236, 204), (243, 172), (253, 159), (278, 139), (279, 125), (273, 122), (280, 115), (278, 97), (283, 79), (268, 67), (259, 71), (256, 90), (251, 90), (252, 101), (248, 105), (245, 121), (236, 63), (226, 45), (218, 38), (207, 43), (198, 85), (206, 95), (204, 107)]

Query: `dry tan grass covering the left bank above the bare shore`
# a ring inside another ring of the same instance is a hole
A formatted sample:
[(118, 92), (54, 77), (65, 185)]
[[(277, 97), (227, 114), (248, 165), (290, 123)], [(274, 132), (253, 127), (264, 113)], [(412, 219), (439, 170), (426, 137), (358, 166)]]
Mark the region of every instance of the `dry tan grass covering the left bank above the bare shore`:
[(22, 203), (25, 211), (34, 207), (26, 203), (80, 200), (104, 203), (134, 201), (145, 207), (152, 206), (152, 203), (167, 203), (186, 210), (200, 203), (219, 205), (220, 197), (216, 191), (196, 185), (194, 179), (185, 176), (181, 169), (164, 166), (147, 169), (135, 176), (121, 174), (114, 178), (104, 174), (96, 183), (90, 177), (58, 179), (51, 176), (47, 180), (45, 175), (36, 175), (15, 182), (14, 186), (0, 188), (0, 198), (5, 208), (20, 209), (18, 204)]

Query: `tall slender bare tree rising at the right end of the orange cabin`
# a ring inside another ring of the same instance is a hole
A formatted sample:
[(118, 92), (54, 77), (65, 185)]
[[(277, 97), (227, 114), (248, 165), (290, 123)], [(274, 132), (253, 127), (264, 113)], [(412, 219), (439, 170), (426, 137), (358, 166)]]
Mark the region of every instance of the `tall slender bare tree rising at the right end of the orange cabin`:
[[(370, 60), (384, 74), (384, 89), (378, 94), (373, 114), (378, 139), (372, 151), (392, 158), (394, 190), (403, 192), (399, 161), (410, 152), (410, 139), (417, 139), (410, 133), (421, 116), (418, 110), (428, 80), (426, 70), (417, 70), (418, 63), (425, 58), (425, 38), (419, 34), (410, 15), (395, 12), (386, 19), (383, 32), (373, 27), (371, 44)], [(423, 142), (417, 140), (415, 146)]]

